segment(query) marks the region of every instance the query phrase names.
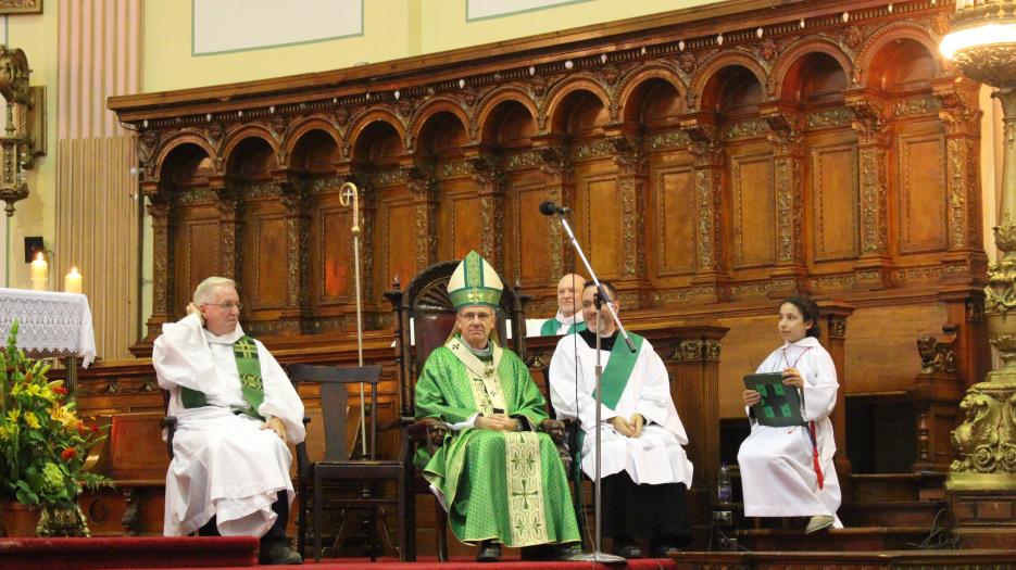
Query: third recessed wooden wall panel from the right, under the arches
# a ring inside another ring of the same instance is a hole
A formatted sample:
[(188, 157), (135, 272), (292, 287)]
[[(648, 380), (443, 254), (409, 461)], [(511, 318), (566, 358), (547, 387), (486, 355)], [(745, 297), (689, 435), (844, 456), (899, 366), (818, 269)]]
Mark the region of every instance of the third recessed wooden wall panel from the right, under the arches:
[(748, 154), (730, 160), (733, 210), (733, 266), (769, 265), (776, 261), (776, 193), (773, 157)]

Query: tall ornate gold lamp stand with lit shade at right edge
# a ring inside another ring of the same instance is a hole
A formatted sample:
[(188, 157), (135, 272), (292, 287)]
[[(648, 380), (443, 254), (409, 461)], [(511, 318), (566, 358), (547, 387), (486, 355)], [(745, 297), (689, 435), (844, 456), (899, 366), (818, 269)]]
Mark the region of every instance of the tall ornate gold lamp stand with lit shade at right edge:
[(966, 420), (953, 432), (959, 459), (950, 468), (946, 489), (1012, 492), (1016, 491), (1016, 0), (958, 0), (952, 22), (942, 54), (964, 75), (998, 88), (992, 97), (1002, 102), (1005, 135), (1001, 224), (994, 228), (1001, 258), (989, 267), (984, 290), (991, 345), (1002, 365), (984, 382), (970, 387), (959, 404)]

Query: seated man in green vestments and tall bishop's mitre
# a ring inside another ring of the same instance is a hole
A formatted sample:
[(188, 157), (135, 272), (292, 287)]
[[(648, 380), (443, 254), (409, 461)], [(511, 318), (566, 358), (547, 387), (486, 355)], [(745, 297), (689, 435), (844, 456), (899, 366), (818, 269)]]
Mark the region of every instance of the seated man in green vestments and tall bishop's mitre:
[(543, 396), (529, 369), (491, 332), (501, 279), (469, 252), (448, 282), (459, 312), (448, 342), (430, 354), (416, 382), (416, 416), (452, 431), (424, 468), (448, 510), (455, 536), (478, 544), (479, 561), (497, 561), (501, 545), (560, 545), (579, 540), (568, 480), (549, 435)]

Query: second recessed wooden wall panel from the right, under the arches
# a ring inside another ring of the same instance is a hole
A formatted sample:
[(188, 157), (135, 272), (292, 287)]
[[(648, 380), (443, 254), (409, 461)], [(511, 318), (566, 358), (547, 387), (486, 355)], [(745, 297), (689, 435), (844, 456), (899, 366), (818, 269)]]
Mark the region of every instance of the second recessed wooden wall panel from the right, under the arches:
[(812, 150), (812, 232), (816, 262), (860, 253), (857, 149), (824, 145)]

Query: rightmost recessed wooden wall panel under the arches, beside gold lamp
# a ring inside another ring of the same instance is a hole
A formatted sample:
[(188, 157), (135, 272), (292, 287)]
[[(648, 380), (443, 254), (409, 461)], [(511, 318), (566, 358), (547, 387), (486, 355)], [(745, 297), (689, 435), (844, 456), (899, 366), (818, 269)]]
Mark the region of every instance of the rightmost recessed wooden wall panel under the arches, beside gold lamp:
[(944, 250), (945, 137), (941, 134), (900, 136), (900, 252)]

